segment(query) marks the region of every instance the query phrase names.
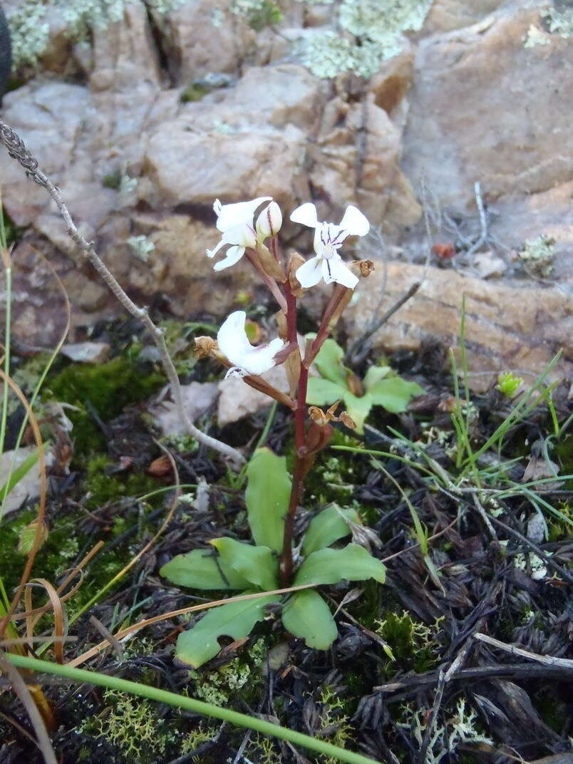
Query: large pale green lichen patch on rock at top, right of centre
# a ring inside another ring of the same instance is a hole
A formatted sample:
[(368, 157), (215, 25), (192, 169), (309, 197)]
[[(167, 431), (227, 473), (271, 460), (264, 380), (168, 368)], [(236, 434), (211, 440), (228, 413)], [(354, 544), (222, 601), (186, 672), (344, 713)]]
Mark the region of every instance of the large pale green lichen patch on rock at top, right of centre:
[(400, 53), (403, 33), (422, 27), (430, 5), (430, 0), (342, 0), (333, 23), (343, 34), (316, 31), (306, 44), (304, 62), (322, 78), (353, 72), (367, 79)]

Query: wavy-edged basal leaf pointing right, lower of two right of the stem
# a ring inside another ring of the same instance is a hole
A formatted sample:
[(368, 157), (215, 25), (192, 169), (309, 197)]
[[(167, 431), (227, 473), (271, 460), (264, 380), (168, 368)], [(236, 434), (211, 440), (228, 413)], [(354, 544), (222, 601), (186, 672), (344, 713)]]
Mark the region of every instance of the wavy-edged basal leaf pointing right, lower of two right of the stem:
[(364, 546), (348, 544), (344, 549), (319, 549), (312, 552), (296, 571), (296, 584), (338, 584), (338, 581), (364, 581), (374, 578), (384, 584), (386, 568)]

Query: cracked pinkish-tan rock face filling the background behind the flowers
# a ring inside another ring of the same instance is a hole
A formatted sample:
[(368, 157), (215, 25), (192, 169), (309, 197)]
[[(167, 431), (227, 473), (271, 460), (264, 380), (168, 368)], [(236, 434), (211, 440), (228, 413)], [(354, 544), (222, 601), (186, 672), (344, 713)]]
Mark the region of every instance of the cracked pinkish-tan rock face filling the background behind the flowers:
[[(160, 295), (177, 316), (223, 315), (238, 291), (257, 288), (245, 262), (212, 273), (205, 249), (218, 240), (215, 198), (274, 196), (285, 241), (303, 254), (310, 238), (287, 221), (290, 209), (312, 199), (322, 219), (337, 220), (353, 203), (374, 231), (361, 254), (378, 266), (348, 322), (356, 336), (380, 297), (383, 258), (396, 261), (386, 307), (426, 259), (424, 179), (430, 244), (452, 242), (458, 255), (430, 268), (416, 298), (380, 332), (380, 348), (432, 336), (451, 342), (467, 290), (476, 374), (534, 373), (558, 347), (571, 361), (573, 47), (546, 29), (543, 4), (435, 0), (422, 31), (368, 82), (312, 75), (293, 40), (329, 24), (329, 15), (285, 5), (278, 31), (254, 32), (242, 18), (221, 21), (226, 0), (187, 2), (167, 16), (128, 3), (123, 21), (94, 31), (89, 48), (63, 39), (54, 21), (40, 73), (8, 93), (2, 116), (142, 303)], [(37, 251), (63, 280), (75, 325), (118, 312), (44, 190), (3, 152), (0, 174), (8, 214), (25, 229), (15, 250), (23, 340), (49, 344), (61, 331), (60, 298), (48, 270), (34, 264)], [(487, 236), (466, 257), (480, 235), (476, 181)], [(536, 281), (516, 253), (540, 235), (555, 239), (555, 259)]]

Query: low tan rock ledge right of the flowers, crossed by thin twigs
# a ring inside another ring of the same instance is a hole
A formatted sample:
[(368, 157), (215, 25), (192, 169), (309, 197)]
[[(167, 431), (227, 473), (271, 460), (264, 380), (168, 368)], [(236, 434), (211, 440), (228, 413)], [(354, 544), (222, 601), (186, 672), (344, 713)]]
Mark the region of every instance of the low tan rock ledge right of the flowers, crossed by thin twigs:
[[(383, 310), (423, 274), (422, 266), (390, 263)], [(348, 308), (345, 316), (352, 340), (364, 332), (383, 286), (384, 274), (378, 269), (361, 286), (357, 303)], [(418, 293), (377, 332), (375, 346), (390, 352), (416, 350), (422, 341), (434, 339), (456, 348), (463, 295), (470, 383), (475, 390), (490, 387), (499, 371), (516, 371), (532, 381), (559, 349), (563, 358), (550, 378), (573, 374), (571, 297), (557, 288), (516, 281), (484, 286), (481, 279), (434, 267)]]

